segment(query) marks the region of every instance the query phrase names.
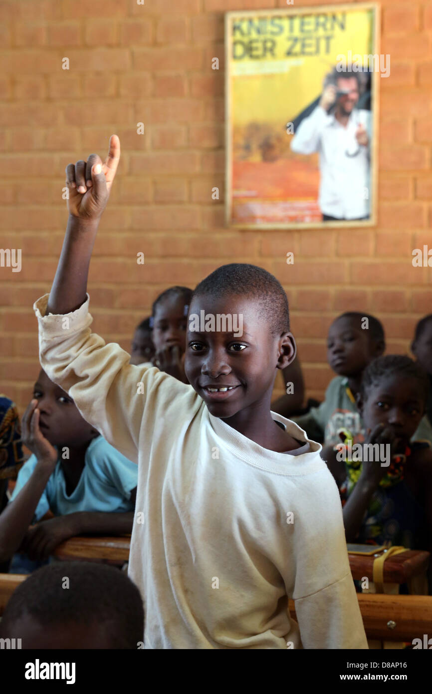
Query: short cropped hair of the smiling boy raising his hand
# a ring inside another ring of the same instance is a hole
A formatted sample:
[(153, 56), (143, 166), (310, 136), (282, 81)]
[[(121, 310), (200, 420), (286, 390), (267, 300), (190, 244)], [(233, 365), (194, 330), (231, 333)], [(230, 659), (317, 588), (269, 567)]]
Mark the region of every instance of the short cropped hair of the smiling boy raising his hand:
[(262, 305), (262, 316), (270, 321), (273, 335), (289, 332), (288, 298), (280, 282), (257, 265), (233, 262), (209, 274), (193, 290), (193, 296), (252, 296)]

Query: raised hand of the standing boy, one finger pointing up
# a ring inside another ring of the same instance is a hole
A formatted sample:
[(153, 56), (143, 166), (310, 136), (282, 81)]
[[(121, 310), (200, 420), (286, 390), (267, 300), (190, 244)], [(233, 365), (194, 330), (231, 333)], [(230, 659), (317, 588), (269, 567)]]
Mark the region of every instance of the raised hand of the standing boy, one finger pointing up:
[(120, 140), (110, 137), (110, 149), (105, 162), (91, 154), (87, 162), (67, 164), (66, 185), (69, 188), (67, 209), (73, 217), (83, 220), (99, 219), (108, 198), (120, 161)]

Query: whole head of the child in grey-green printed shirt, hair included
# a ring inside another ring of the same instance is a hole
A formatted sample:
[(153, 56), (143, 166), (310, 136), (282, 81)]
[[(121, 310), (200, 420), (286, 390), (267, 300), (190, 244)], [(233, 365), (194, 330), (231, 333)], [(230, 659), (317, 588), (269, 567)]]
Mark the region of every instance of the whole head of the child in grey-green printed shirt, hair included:
[(340, 376), (361, 375), (372, 359), (386, 348), (383, 326), (374, 316), (348, 312), (338, 316), (329, 328), (327, 361)]

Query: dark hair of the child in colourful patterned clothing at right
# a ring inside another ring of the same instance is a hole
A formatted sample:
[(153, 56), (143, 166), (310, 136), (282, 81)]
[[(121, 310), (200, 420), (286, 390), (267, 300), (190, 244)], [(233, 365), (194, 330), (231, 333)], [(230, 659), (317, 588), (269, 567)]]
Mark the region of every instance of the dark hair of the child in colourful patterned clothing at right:
[(426, 371), (410, 357), (399, 354), (377, 357), (377, 359), (372, 359), (372, 362), (366, 366), (361, 379), (363, 398), (370, 387), (377, 385), (383, 378), (391, 375), (399, 375), (401, 378), (416, 378), (419, 381), (422, 397), (426, 403), (429, 394), (429, 379)]

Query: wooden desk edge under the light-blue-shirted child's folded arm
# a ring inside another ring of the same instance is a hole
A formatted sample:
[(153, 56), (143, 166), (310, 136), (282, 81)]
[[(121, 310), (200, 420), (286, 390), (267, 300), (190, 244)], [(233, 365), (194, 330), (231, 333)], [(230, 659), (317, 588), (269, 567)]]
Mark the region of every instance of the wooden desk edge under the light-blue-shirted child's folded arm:
[(71, 537), (55, 548), (53, 556), (62, 561), (98, 561), (122, 566), (129, 560), (130, 535), (119, 537)]

